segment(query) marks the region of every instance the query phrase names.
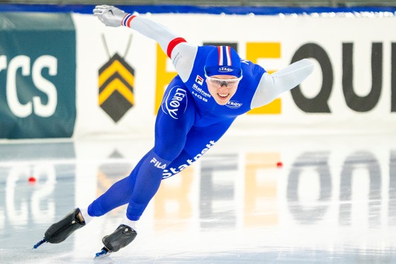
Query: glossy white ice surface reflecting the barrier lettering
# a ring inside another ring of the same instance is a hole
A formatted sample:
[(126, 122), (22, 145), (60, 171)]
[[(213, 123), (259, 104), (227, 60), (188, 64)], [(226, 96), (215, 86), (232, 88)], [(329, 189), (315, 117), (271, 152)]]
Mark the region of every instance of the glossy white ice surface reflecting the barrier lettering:
[(0, 263), (396, 263), (396, 137), (386, 134), (226, 136), (162, 182), (127, 248), (93, 260), (120, 207), (32, 249), (151, 146), (148, 137), (0, 144)]

